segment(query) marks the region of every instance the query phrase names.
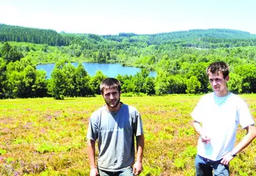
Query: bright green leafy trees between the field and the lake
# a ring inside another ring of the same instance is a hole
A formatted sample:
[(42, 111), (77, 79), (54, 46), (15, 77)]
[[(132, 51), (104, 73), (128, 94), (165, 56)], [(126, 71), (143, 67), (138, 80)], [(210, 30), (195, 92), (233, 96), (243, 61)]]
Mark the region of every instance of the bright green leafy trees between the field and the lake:
[[(200, 52), (195, 51), (187, 53), (184, 52), (184, 48), (175, 51), (175, 57), (172, 56), (170, 59), (171, 56), (165, 55), (157, 63), (156, 78), (149, 77), (149, 71), (146, 68), (134, 76), (118, 75), (117, 79), (122, 83), (122, 92), (127, 95), (207, 93), (211, 88), (205, 69), (212, 61), (226, 61), (230, 64), (231, 71), (229, 89), (234, 93), (256, 93), (255, 55), (251, 59), (246, 58), (247, 55), (245, 58), (224, 58), (219, 55), (200, 56)], [(229, 53), (227, 56), (240, 56), (242, 50), (237, 48), (233, 52), (235, 53)], [(222, 54), (225, 55), (225, 53)], [(0, 56), (0, 98), (52, 96), (63, 99), (64, 97), (93, 96), (100, 94), (99, 84), (107, 78), (101, 71), (98, 71), (95, 76), (89, 76), (82, 63), (79, 63), (76, 68), (67, 58), (60, 58), (56, 61), (51, 78), (46, 79), (46, 72), (36, 70), (36, 62), (31, 56), (24, 56), (9, 43), (1, 46)], [(144, 59), (152, 61), (152, 64), (156, 60), (154, 56), (145, 56)]]

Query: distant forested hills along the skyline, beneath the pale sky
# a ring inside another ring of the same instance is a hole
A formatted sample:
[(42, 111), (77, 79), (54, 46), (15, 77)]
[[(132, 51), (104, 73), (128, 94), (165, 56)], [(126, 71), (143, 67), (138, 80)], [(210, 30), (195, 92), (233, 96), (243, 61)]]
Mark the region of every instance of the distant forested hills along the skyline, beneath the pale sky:
[[(88, 33), (57, 33), (50, 29), (33, 29), (21, 26), (0, 24), (0, 41), (18, 41), (48, 44), (49, 46), (69, 46), (77, 43), (85, 46), (100, 44), (100, 47), (112, 46), (172, 45), (196, 48), (230, 48), (237, 46), (256, 46), (256, 35), (231, 29), (194, 29), (170, 33), (143, 34), (119, 33), (104, 35)], [(98, 47), (96, 47), (98, 48)]]

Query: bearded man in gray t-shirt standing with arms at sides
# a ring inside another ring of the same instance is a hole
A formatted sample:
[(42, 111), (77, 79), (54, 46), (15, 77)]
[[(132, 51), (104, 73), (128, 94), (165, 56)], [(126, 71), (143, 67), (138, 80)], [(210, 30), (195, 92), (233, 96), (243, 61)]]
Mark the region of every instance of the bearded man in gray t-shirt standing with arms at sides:
[[(105, 105), (92, 113), (87, 132), (90, 176), (132, 176), (142, 172), (144, 135), (142, 119), (136, 108), (120, 102), (121, 85), (115, 78), (100, 84)], [(135, 162), (134, 136), (137, 142)], [(95, 162), (95, 142), (99, 157)]]

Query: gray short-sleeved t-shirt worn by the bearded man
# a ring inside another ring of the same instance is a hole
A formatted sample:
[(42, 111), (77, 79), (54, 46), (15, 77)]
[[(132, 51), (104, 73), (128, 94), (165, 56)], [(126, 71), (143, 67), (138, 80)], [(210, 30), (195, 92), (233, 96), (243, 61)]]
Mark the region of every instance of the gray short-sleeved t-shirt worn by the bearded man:
[(116, 113), (103, 106), (92, 113), (87, 138), (99, 140), (99, 169), (116, 172), (132, 166), (134, 136), (142, 134), (142, 118), (133, 106), (122, 104)]

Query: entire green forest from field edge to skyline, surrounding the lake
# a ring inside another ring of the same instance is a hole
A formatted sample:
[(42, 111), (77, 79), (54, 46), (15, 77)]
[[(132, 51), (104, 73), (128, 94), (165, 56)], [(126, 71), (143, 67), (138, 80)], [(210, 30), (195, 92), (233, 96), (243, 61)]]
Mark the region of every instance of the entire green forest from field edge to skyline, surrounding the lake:
[[(92, 96), (99, 94), (101, 71), (89, 76), (82, 62), (122, 63), (143, 68), (117, 76), (124, 95), (207, 93), (205, 73), (213, 61), (230, 65), (234, 93), (256, 93), (256, 35), (231, 29), (195, 29), (137, 35), (57, 33), (0, 24), (0, 98)], [(71, 63), (80, 63), (74, 67)], [(51, 78), (36, 70), (56, 63)], [(157, 77), (149, 77), (149, 70)]]

